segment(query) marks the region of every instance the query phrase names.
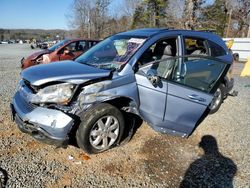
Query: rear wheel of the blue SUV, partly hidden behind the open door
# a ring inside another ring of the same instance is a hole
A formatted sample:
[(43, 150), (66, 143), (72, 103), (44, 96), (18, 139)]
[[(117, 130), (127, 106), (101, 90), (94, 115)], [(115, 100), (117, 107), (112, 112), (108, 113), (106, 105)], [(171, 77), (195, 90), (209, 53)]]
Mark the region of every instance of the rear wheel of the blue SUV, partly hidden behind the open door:
[[(219, 93), (219, 96), (217, 96), (218, 93)], [(225, 86), (223, 84), (220, 84), (219, 88), (215, 92), (215, 98), (209, 105), (209, 109), (210, 109), (209, 114), (214, 114), (215, 112), (219, 110), (224, 99), (224, 95), (225, 95), (224, 93), (225, 93)]]

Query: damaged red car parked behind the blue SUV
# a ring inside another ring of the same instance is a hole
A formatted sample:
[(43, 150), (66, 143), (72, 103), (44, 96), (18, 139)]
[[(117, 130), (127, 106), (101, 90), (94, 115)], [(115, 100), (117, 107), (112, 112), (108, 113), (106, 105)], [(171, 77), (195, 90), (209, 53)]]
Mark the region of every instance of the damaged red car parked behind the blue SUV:
[(46, 50), (22, 58), (21, 68), (26, 69), (33, 65), (75, 59), (98, 42), (99, 40), (65, 39)]

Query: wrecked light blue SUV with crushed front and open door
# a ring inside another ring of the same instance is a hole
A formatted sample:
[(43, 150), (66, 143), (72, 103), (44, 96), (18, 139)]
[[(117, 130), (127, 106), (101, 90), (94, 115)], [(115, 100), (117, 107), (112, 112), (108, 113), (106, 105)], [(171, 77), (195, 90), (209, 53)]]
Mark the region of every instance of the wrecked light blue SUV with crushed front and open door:
[[(192, 40), (188, 48), (186, 38)], [(214, 46), (221, 50), (217, 58)], [(128, 113), (156, 131), (188, 137), (208, 114), (232, 61), (212, 33), (119, 33), (75, 61), (24, 70), (11, 103), (13, 119), (21, 131), (58, 146), (73, 135), (88, 153), (119, 144)]]

